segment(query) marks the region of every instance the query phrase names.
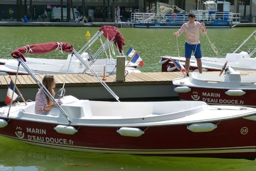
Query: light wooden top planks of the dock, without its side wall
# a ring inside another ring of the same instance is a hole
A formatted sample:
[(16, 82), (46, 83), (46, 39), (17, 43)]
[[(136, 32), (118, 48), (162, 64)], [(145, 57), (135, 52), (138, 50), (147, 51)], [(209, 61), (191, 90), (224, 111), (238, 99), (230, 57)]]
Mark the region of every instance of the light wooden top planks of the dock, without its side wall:
[[(206, 73), (206, 72), (204, 72)], [(218, 72), (207, 72), (207, 73), (218, 73)], [(240, 71), (241, 74), (256, 73), (256, 71)], [(36, 75), (41, 81), (44, 75)], [(56, 84), (60, 85), (64, 83), (66, 75), (56, 74), (54, 79)], [(107, 84), (118, 84), (118, 85), (132, 85), (132, 84), (172, 84), (172, 80), (175, 78), (184, 77), (181, 72), (141, 72), (141, 73), (129, 73), (125, 77), (125, 81), (115, 81), (115, 75), (106, 75)], [(15, 81), (15, 76), (12, 75), (11, 78)], [(101, 76), (103, 78), (103, 76)], [(6, 87), (10, 83), (8, 75), (0, 75), (0, 88)], [(31, 86), (36, 85), (36, 82), (30, 75), (18, 75), (16, 84), (19, 86)], [(66, 80), (66, 86), (80, 86), (80, 85), (90, 85), (99, 84), (99, 81), (90, 74), (68, 74)]]

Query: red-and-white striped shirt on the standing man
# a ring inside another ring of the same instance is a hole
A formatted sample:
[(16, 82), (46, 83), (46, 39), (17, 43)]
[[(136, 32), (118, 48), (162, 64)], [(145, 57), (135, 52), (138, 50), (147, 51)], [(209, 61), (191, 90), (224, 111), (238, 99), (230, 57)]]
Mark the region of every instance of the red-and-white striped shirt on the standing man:
[(191, 45), (197, 45), (199, 41), (199, 32), (206, 34), (207, 32), (203, 29), (200, 22), (195, 21), (194, 24), (184, 23), (178, 31), (178, 36), (183, 32), (186, 33), (186, 42)]

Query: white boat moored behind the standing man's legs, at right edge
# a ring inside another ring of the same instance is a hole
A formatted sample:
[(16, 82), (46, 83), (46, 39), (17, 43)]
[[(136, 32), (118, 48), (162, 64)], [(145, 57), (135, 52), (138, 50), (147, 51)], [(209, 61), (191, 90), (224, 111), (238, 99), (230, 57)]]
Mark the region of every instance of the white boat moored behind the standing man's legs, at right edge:
[[(214, 57), (202, 57), (202, 68), (204, 71), (221, 71), (222, 66), (228, 61), (227, 66), (231, 66), (234, 70), (256, 70), (256, 58), (251, 58), (256, 52), (256, 47), (254, 46), (251, 52), (240, 52), (237, 51), (251, 38), (254, 36), (256, 40), (256, 30), (249, 35), (247, 39), (233, 52), (227, 53), (225, 58), (214, 58)], [(168, 71), (177, 71), (174, 64), (170, 61), (170, 58), (173, 60), (179, 61), (183, 66), (185, 66), (186, 58), (184, 57), (171, 57), (171, 56), (162, 56), (162, 59), (159, 61), (159, 64), (162, 65), (162, 72)], [(195, 57), (191, 57), (189, 70), (198, 70)]]

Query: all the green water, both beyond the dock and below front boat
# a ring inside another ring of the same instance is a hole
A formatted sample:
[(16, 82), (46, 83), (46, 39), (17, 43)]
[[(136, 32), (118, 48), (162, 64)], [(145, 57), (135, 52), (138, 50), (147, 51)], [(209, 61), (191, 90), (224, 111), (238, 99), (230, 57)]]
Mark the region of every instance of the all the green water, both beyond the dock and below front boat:
[[(64, 41), (79, 50), (88, 39), (85, 33), (96, 33), (97, 27), (0, 27), (0, 58), (11, 58), (20, 46)], [(219, 54), (232, 53), (256, 28), (208, 29), (210, 41)], [(177, 44), (172, 33), (177, 29), (121, 28), (126, 40), (124, 52), (132, 46), (141, 55), (142, 72), (159, 72), (160, 56), (178, 56)], [(185, 35), (177, 39), (180, 56), (184, 54)], [(209, 40), (201, 36), (203, 56), (213, 56)], [(254, 48), (256, 40), (250, 39), (242, 48)], [(99, 47), (98, 44), (96, 49)], [(26, 57), (66, 59), (67, 53), (51, 52), (44, 55), (27, 54)], [(256, 57), (254, 54), (253, 57)], [(189, 139), (188, 139), (189, 143)], [(65, 162), (65, 163), (64, 163)], [(68, 164), (76, 164), (70, 167)], [(88, 164), (89, 166), (84, 166)], [(0, 137), (0, 171), (255, 171), (256, 161), (220, 158), (176, 158), (123, 154), (101, 154), (62, 151), (27, 145)]]

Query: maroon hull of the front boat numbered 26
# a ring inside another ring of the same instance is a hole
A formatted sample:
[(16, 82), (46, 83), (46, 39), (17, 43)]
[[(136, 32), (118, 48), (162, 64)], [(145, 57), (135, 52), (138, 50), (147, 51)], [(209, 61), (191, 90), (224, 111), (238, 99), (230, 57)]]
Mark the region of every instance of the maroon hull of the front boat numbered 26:
[(54, 130), (58, 124), (8, 120), (0, 135), (25, 143), (75, 151), (130, 153), (142, 155), (256, 158), (256, 122), (234, 118), (211, 122), (211, 132), (191, 132), (187, 124), (139, 127), (140, 137), (121, 136), (119, 127), (74, 126), (74, 135)]

